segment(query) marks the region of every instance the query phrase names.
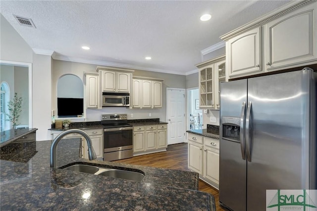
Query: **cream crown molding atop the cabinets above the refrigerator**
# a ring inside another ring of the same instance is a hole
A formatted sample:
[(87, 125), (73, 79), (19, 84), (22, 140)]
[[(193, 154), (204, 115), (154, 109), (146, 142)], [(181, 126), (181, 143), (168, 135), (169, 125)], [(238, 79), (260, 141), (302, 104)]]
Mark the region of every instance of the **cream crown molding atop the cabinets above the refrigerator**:
[(251, 29), (254, 29), (254, 28), (257, 28), (257, 27), (261, 27), (263, 26), (264, 24), (276, 19), (276, 18), (279, 18), (283, 15), (286, 15), (290, 12), (293, 12), (297, 9), (300, 9), (304, 6), (307, 6), (308, 4), (311, 4), (311, 3), (314, 3), (316, 2), (317, 0), (303, 0), (303, 1), (298, 1), (298, 0), (292, 0), (291, 2), (273, 10), (272, 12), (270, 13), (267, 13), (231, 32), (228, 32), (227, 34), (224, 34), (220, 37), (220, 39), (224, 40), (224, 41), (227, 41), (229, 40), (230, 38), (232, 37), (235, 37), (239, 34), (242, 34), (246, 31), (249, 31)]

